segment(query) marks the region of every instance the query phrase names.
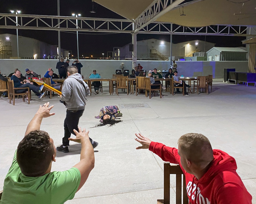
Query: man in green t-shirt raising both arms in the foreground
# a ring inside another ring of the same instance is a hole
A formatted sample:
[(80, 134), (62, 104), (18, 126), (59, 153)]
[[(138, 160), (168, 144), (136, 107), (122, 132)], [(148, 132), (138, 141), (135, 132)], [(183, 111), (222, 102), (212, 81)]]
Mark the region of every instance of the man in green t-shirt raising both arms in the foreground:
[(65, 203), (81, 189), (94, 168), (89, 131), (79, 128), (79, 132), (74, 130), (76, 138), (70, 138), (70, 141), (81, 143), (80, 162), (66, 171), (51, 172), (52, 162), (56, 161), (56, 148), (49, 134), (40, 130), (40, 125), (43, 118), (55, 114), (50, 113), (52, 108), (49, 102), (40, 106), (28, 124), (4, 180), (1, 204)]

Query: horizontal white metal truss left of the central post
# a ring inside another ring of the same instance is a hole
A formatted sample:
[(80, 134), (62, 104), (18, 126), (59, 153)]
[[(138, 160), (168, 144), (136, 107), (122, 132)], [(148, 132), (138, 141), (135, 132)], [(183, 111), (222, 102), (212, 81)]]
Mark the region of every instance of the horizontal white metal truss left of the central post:
[[(14, 20), (16, 16), (18, 17), (18, 23)], [(80, 20), (78, 26), (76, 20)], [(0, 28), (131, 33), (133, 22), (127, 19), (0, 14)]]

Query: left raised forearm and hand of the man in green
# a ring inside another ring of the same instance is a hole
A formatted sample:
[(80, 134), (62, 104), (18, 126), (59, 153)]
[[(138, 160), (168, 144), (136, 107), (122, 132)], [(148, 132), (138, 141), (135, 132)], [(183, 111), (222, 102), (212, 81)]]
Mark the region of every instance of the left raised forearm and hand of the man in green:
[(25, 136), (34, 130), (40, 130), (40, 125), (43, 118), (47, 118), (50, 116), (55, 115), (55, 113), (50, 113), (50, 110), (53, 108), (53, 106), (49, 107), (49, 102), (45, 103), (43, 106), (40, 106), (38, 111), (36, 112), (35, 116), (32, 118), (32, 120), (29, 122), (27, 126), (27, 130), (25, 132)]

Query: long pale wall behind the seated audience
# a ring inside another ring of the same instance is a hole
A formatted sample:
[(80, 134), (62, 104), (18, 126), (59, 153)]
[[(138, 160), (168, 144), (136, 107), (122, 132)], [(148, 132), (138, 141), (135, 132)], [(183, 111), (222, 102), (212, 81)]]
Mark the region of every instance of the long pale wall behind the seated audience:
[[(115, 74), (116, 69), (120, 69), (121, 63), (124, 63), (125, 69), (132, 70), (132, 62), (128, 60), (79, 60), (83, 67), (81, 73), (84, 78), (89, 78), (92, 70), (96, 69), (101, 74), (102, 78), (112, 78), (112, 74)], [(37, 74), (41, 74), (41, 77), (46, 73), (49, 67), (53, 68), (55, 73), (58, 73), (56, 69), (56, 63), (58, 60), (40, 60), (40, 59), (0, 59), (0, 70), (2, 74), (9, 75), (14, 72), (15, 68), (18, 68), (23, 75), (25, 75), (25, 69), (35, 71)], [(70, 65), (73, 60), (70, 61)], [(140, 63), (143, 69), (153, 70), (168, 70), (170, 68), (170, 61), (137, 61)], [(225, 68), (235, 68), (236, 71), (247, 72), (248, 61), (176, 61), (178, 65), (178, 75), (184, 75), (187, 77), (202, 76), (213, 74), (214, 77), (223, 77)]]

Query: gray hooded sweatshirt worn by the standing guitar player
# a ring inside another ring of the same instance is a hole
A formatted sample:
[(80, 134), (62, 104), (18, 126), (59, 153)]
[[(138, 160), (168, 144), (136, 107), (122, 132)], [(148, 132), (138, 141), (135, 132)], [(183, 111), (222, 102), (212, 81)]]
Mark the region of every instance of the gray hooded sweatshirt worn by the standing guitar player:
[[(83, 83), (86, 90), (84, 89)], [(83, 81), (79, 73), (70, 75), (62, 85), (61, 100), (65, 101), (68, 110), (83, 110), (86, 105), (86, 94), (90, 94), (90, 88)]]

